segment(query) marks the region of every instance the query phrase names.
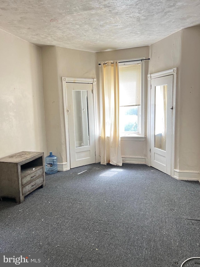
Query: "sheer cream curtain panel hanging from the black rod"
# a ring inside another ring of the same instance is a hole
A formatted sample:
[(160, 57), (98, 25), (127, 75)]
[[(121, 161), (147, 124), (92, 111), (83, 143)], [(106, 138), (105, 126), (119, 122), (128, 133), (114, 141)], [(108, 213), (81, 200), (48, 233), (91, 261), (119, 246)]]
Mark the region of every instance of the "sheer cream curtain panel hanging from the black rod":
[(122, 166), (119, 134), (119, 68), (118, 62), (101, 63), (102, 127), (101, 164)]

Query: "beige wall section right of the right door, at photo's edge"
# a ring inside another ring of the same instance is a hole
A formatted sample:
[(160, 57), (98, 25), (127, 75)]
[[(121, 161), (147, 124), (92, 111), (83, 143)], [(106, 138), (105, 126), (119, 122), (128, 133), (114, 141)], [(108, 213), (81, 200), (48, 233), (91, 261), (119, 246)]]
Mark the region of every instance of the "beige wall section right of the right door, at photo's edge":
[(200, 28), (183, 30), (181, 51), (178, 165), (200, 171)]

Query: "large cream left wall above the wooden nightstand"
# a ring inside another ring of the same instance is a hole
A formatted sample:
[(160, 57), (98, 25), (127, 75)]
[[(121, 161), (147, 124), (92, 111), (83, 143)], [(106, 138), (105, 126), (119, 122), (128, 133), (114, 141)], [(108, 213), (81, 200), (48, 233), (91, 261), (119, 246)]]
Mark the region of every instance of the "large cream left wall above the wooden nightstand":
[(0, 157), (46, 153), (40, 48), (0, 30)]

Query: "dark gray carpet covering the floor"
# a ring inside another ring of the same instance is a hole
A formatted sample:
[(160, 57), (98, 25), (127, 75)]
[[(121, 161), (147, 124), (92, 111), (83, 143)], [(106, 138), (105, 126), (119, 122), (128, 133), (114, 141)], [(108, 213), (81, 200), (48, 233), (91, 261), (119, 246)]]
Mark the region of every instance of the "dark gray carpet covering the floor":
[(200, 256), (200, 183), (146, 165), (46, 175), (46, 187), (0, 210), (0, 252), (42, 252), (47, 267), (169, 267)]

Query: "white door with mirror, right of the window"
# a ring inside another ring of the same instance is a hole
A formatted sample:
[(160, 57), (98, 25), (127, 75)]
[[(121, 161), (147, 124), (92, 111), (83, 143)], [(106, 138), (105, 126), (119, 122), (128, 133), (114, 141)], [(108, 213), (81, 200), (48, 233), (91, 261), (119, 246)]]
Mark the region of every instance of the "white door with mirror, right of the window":
[(173, 75), (151, 80), (151, 166), (171, 175)]

